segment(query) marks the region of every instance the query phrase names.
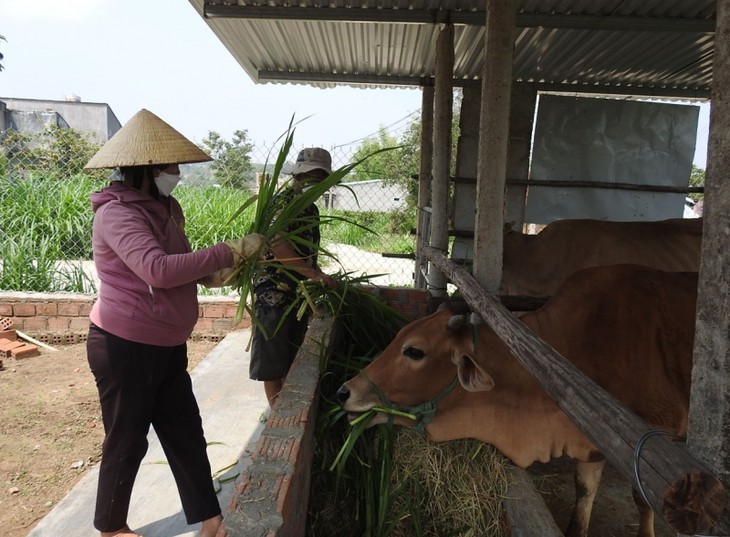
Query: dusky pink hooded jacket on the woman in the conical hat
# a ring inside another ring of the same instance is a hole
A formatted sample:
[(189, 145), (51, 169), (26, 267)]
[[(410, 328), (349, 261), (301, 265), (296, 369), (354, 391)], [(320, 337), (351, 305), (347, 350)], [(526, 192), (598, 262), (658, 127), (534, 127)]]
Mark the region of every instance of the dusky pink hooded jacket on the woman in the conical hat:
[(91, 195), (93, 252), (101, 280), (90, 319), (137, 343), (185, 343), (198, 320), (196, 281), (233, 265), (224, 243), (190, 251), (180, 204), (115, 182)]

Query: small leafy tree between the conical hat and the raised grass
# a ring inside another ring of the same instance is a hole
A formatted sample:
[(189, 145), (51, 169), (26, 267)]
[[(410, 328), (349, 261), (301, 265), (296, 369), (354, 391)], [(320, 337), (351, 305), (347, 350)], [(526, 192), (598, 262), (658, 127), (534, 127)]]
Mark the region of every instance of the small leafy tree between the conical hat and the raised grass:
[(215, 131), (208, 131), (201, 145), (214, 159), (210, 168), (220, 186), (245, 188), (255, 183), (251, 164), (253, 144), (248, 139), (248, 131), (235, 131), (231, 141)]

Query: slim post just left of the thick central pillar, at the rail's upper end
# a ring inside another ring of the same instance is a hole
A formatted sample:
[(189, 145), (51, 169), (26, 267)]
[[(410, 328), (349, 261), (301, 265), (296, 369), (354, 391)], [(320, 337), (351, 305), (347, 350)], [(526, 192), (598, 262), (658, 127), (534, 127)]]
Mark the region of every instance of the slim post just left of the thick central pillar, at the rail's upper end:
[[(436, 41), (433, 121), (433, 181), (431, 184), (431, 246), (448, 251), (449, 167), (453, 106), (454, 27), (444, 25)], [(446, 295), (446, 278), (429, 265), (428, 288), (435, 297)]]

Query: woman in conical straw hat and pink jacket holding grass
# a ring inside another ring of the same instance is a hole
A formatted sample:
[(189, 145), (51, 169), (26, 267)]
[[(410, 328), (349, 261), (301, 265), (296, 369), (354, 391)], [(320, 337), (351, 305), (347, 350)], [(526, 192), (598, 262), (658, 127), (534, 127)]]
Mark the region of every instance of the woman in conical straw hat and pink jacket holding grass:
[(119, 168), (91, 195), (92, 245), (101, 280), (89, 315), (89, 365), (96, 378), (105, 438), (94, 526), (102, 537), (136, 536), (127, 525), (132, 486), (150, 425), (178, 486), (187, 522), (214, 537), (222, 515), (211, 478), (185, 342), (198, 320), (197, 283), (217, 280), (259, 255), (259, 235), (192, 251), (172, 190), (179, 164), (212, 160), (141, 110), (86, 168)]

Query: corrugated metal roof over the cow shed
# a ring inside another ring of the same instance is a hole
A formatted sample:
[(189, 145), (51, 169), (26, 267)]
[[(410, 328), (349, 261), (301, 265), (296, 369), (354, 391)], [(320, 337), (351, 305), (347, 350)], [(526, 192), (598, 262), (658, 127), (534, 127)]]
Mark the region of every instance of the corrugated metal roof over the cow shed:
[[(441, 24), (454, 83), (479, 80), (486, 1), (189, 0), (256, 82), (431, 84)], [(715, 0), (519, 0), (514, 79), (555, 91), (709, 97)]]

